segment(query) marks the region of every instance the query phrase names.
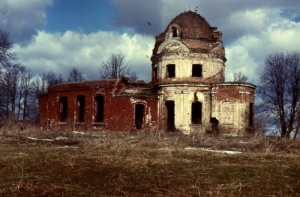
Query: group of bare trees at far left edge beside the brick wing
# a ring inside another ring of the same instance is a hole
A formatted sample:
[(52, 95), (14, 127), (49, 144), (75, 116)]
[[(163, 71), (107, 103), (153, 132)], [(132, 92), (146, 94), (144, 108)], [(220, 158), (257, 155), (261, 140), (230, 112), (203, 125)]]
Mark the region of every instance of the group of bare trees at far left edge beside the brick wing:
[(17, 58), (9, 52), (11, 45), (8, 34), (0, 30), (0, 124), (8, 125), (36, 118), (38, 111), (32, 74), (15, 63)]

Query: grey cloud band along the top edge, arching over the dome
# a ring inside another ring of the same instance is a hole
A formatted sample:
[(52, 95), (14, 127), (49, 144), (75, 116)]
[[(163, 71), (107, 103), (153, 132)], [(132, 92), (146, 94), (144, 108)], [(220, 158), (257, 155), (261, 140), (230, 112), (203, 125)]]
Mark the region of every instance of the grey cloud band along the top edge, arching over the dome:
[[(168, 23), (184, 11), (197, 11), (224, 33), (225, 43), (231, 43), (245, 32), (259, 31), (260, 27), (280, 18), (283, 10), (297, 10), (295, 0), (110, 0), (116, 10), (117, 25), (129, 27), (137, 33), (157, 35)], [(299, 10), (299, 9), (298, 9)], [(293, 12), (293, 14), (297, 12)], [(282, 16), (281, 16), (282, 17)], [(297, 16), (293, 16), (295, 18)], [(151, 28), (146, 22), (152, 23)]]

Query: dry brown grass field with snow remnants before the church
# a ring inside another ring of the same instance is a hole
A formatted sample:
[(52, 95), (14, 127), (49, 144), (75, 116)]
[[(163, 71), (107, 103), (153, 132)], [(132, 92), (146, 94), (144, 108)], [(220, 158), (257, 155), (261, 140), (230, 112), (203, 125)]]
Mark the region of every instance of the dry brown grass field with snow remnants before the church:
[(2, 129), (0, 175), (0, 196), (300, 196), (300, 142)]

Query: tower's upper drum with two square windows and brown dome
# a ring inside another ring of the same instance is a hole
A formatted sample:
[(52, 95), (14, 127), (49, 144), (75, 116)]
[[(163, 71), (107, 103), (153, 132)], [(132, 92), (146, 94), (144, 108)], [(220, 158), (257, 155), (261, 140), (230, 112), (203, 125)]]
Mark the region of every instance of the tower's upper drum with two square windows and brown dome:
[(151, 60), (155, 84), (223, 82), (222, 32), (195, 12), (181, 13), (156, 36)]

